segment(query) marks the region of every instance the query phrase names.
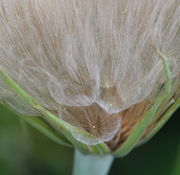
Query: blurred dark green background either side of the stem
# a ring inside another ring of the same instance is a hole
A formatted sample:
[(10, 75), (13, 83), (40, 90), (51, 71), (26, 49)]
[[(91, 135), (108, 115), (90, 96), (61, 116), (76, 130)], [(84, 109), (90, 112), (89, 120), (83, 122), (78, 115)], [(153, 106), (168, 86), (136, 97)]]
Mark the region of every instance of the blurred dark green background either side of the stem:
[[(180, 114), (148, 143), (116, 159), (110, 175), (180, 175)], [(0, 175), (71, 175), (73, 150), (53, 143), (0, 106)], [(103, 167), (102, 167), (103, 168)]]

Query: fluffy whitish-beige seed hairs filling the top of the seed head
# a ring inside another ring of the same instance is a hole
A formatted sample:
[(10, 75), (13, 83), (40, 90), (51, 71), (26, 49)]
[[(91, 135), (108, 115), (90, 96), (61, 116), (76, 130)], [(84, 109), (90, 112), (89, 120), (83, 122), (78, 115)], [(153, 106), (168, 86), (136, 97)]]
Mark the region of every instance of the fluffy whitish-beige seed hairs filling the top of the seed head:
[[(69, 122), (82, 111), (62, 109), (96, 104), (81, 116), (86, 126), (95, 115), (103, 120), (100, 113), (121, 112), (159, 90), (164, 73), (157, 50), (177, 76), (179, 16), (179, 0), (0, 0), (0, 69)], [(22, 100), (13, 102), (2, 80), (0, 86), (13, 108), (36, 115)], [(111, 134), (101, 132), (103, 141), (120, 129), (118, 121)]]

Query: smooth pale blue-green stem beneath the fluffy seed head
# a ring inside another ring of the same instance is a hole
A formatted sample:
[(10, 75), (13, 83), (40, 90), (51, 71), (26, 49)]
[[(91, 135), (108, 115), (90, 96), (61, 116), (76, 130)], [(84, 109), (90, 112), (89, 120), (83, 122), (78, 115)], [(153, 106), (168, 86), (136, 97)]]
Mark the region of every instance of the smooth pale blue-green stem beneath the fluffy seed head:
[(85, 155), (76, 150), (73, 175), (107, 175), (113, 159), (111, 155)]

